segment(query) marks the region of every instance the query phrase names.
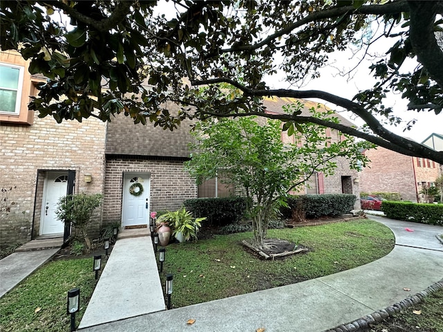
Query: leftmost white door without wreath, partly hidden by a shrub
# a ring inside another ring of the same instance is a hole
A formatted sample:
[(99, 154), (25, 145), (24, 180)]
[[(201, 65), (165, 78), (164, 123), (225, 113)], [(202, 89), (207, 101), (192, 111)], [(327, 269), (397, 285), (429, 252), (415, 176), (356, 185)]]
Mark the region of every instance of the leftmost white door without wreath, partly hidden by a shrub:
[(42, 218), (40, 220), (40, 235), (63, 234), (64, 223), (57, 219), (55, 211), (57, 202), (66, 196), (68, 188), (68, 172), (48, 172), (43, 188)]

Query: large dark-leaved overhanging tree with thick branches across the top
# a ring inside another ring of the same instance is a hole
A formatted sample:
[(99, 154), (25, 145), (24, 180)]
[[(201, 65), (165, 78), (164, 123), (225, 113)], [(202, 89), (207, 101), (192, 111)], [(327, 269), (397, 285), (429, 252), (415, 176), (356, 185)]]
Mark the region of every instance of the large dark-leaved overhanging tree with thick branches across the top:
[[(30, 59), (30, 72), (48, 77), (30, 103), (40, 116), (111, 120), (124, 112), (173, 129), (186, 117), (248, 116), (313, 122), (408, 156), (443, 163), (433, 151), (397, 136), (397, 110), (384, 106), (397, 91), (408, 108), (439, 114), (443, 104), (443, 52), (437, 39), (443, 1), (1, 1), (0, 43)], [(164, 15), (167, 14), (167, 15)], [(69, 17), (69, 25), (59, 22)], [(379, 27), (382, 33), (372, 33)], [(318, 79), (328, 55), (348, 44), (369, 54), (384, 39), (386, 55), (374, 59), (377, 83), (352, 99), (328, 91), (269, 89), (276, 70), (296, 84)], [(280, 64), (273, 62), (282, 57)], [(408, 71), (406, 59), (417, 61)], [(188, 81), (183, 82), (183, 77)], [(233, 77), (237, 77), (233, 79)], [(219, 83), (239, 93), (226, 95)], [(200, 86), (209, 86), (203, 91)], [(61, 98), (64, 95), (66, 98)], [(269, 95), (318, 98), (361, 118), (356, 129), (316, 116), (269, 114), (257, 109)], [(178, 115), (168, 101), (183, 105)], [(420, 113), (417, 113), (419, 118)]]

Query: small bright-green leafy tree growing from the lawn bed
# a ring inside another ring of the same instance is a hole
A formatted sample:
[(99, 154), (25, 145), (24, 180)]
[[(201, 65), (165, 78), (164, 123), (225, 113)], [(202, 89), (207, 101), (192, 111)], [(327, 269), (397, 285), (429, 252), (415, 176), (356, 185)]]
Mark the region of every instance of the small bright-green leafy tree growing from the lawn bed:
[[(287, 111), (297, 111), (294, 104)], [(311, 109), (312, 113), (316, 109)], [(321, 118), (327, 117), (322, 113)], [(284, 205), (291, 190), (299, 190), (314, 172), (334, 174), (340, 158), (357, 169), (368, 161), (361, 149), (365, 141), (352, 136), (332, 140), (324, 127), (301, 124), (296, 144), (283, 143), (281, 122), (259, 124), (253, 118), (221, 119), (199, 122), (194, 131), (192, 158), (186, 163), (197, 183), (218, 176), (231, 183), (246, 197), (246, 212), (253, 225), (254, 243), (262, 249), (268, 223), (275, 210)], [(291, 130), (291, 129), (288, 129)]]

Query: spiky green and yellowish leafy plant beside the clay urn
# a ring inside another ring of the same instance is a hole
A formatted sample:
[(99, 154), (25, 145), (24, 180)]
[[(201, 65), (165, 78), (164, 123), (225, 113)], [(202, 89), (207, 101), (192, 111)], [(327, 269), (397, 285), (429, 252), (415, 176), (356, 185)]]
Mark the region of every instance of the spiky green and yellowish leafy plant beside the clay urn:
[(157, 224), (167, 223), (172, 228), (172, 234), (179, 242), (197, 239), (197, 233), (204, 218), (194, 218), (186, 208), (175, 212), (166, 212), (157, 219)]

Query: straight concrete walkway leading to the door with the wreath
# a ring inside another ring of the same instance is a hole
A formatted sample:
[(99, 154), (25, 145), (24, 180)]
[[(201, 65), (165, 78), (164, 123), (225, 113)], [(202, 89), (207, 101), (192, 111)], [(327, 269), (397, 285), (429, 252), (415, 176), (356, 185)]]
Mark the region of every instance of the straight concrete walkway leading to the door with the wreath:
[(151, 237), (119, 239), (79, 329), (165, 310)]

